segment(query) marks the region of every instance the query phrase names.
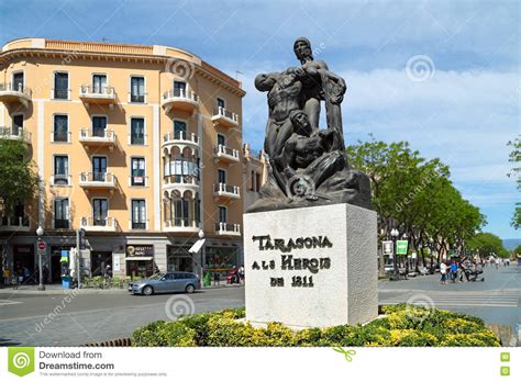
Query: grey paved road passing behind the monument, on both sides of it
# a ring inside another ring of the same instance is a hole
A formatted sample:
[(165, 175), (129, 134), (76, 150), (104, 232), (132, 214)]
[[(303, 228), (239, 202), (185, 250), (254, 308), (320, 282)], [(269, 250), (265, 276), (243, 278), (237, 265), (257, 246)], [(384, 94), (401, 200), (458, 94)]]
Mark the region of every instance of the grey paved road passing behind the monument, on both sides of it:
[[(485, 282), (446, 285), (439, 283), (439, 276), (381, 281), (379, 302), (433, 304), (481, 317), (489, 324), (510, 325), (519, 335), (521, 267), (486, 269), (485, 278)], [(67, 302), (59, 294), (12, 294), (0, 290), (0, 346), (77, 346), (129, 337), (138, 326), (167, 319), (166, 312), (173, 312), (174, 303), (184, 308), (184, 296), (80, 293)], [(244, 306), (243, 288), (206, 290), (190, 297), (195, 312)], [(53, 312), (58, 314), (45, 323)]]

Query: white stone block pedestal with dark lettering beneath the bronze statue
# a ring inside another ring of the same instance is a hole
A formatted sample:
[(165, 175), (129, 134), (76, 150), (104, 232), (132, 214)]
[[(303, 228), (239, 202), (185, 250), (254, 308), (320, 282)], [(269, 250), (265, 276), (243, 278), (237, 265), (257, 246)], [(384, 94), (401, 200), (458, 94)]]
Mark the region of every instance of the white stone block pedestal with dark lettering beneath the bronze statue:
[(298, 329), (376, 318), (376, 217), (351, 204), (244, 214), (246, 319)]

